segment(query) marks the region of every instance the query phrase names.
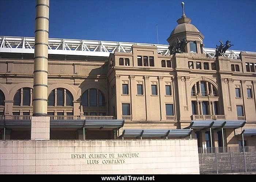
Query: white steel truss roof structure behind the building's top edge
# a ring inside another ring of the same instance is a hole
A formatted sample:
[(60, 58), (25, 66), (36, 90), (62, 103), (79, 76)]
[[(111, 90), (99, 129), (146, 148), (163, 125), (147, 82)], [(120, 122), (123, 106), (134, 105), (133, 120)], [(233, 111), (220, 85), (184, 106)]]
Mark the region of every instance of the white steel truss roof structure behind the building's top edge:
[[(0, 52), (1, 53), (34, 53), (34, 37), (18, 37), (18, 36), (0, 36)], [(84, 55), (84, 56), (100, 56), (109, 57), (110, 53), (123, 52), (131, 53), (132, 45), (140, 46), (156, 46), (158, 54), (170, 55), (169, 45), (167, 44), (147, 44), (133, 42), (112, 42), (99, 40), (79, 40), (79, 39), (56, 39), (49, 38), (48, 54), (61, 55)], [(214, 58), (215, 49), (203, 48), (204, 54), (209, 58)], [(225, 55), (230, 59), (239, 59), (241, 51), (227, 50)], [(242, 51), (246, 53), (254, 53)]]

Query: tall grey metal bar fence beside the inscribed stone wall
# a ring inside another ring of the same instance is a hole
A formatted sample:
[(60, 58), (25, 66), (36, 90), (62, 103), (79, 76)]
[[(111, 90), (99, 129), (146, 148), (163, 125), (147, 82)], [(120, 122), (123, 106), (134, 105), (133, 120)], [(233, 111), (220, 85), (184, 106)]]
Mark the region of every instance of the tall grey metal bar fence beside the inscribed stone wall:
[(256, 146), (198, 148), (200, 174), (256, 172)]

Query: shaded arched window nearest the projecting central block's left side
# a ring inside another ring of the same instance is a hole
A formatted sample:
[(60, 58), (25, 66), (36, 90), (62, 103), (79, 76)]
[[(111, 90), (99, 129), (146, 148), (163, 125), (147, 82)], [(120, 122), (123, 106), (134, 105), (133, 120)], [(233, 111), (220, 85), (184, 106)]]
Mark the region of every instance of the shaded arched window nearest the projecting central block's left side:
[(81, 105), (86, 107), (105, 106), (105, 98), (98, 89), (88, 89), (81, 97)]

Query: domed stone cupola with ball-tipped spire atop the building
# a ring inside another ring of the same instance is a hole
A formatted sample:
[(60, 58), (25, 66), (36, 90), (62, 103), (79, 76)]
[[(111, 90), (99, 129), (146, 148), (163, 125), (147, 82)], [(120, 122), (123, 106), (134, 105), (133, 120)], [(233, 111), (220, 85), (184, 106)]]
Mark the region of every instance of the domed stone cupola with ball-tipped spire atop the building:
[(184, 3), (181, 3), (182, 16), (177, 20), (178, 25), (171, 32), (167, 41), (170, 47), (174, 46), (177, 41), (189, 41), (185, 46), (185, 53), (199, 53), (203, 54), (203, 39), (201, 32), (191, 24), (191, 19), (187, 18), (184, 12)]

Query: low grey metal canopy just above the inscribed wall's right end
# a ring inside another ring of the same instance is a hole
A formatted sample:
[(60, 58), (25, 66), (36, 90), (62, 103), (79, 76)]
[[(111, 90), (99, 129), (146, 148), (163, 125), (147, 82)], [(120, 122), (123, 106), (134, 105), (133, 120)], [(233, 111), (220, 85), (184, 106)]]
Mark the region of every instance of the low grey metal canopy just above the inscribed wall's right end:
[(120, 137), (186, 137), (192, 129), (124, 129)]

